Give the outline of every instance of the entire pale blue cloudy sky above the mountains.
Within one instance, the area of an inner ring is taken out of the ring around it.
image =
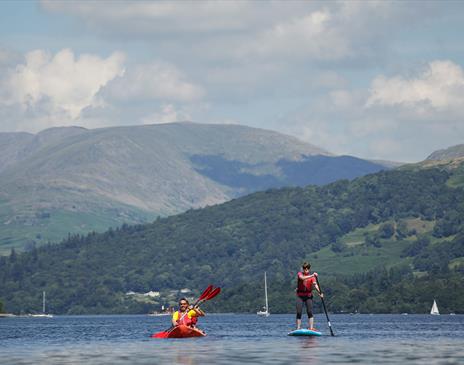
[[[193,121],[419,161],[464,143],[462,1],[2,1],[0,132]]]

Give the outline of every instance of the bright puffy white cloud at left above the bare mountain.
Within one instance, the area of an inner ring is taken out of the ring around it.
[[[95,95],[123,69],[124,57],[113,53],[106,59],[83,54],[75,58],[70,49],[55,55],[43,50],[29,52],[25,62],[10,69],[0,83],[4,106],[23,112],[40,110],[75,120],[95,102]]]

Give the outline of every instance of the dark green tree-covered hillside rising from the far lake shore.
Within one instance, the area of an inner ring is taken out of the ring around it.
[[[463,186],[463,165],[402,168],[69,236],[0,257],[0,298],[16,313],[40,310],[43,290],[57,314],[146,313],[167,299],[125,293],[214,283],[223,292],[207,310],[254,312],[266,271],[271,311],[292,312],[296,272],[310,260],[332,312],[424,313],[437,298],[442,312],[462,313]],[[362,241],[346,243],[359,230]]]

